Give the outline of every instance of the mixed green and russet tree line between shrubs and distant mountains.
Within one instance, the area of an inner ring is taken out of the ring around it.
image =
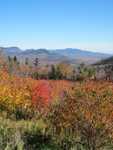
[[[29,58],[25,58],[25,61],[20,63],[16,56],[8,56],[7,66],[10,74],[32,77],[34,79],[82,81],[95,78],[95,69],[83,63],[78,66],[72,66],[64,62],[53,65],[41,65],[38,57],[32,61]]]

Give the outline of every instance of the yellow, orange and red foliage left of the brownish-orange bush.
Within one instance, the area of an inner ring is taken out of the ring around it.
[[[33,80],[0,71],[0,107],[7,111],[40,109],[58,100],[71,84],[67,81]]]

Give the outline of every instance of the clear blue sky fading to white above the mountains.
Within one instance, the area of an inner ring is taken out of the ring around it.
[[[113,0],[0,0],[0,46],[113,53]]]

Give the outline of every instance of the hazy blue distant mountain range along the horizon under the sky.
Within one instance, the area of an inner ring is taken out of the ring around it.
[[[97,61],[111,57],[110,54],[90,52],[81,49],[67,48],[67,49],[26,49],[21,50],[18,47],[1,47],[0,48],[6,56],[17,56],[20,61],[25,58],[33,60],[39,58],[41,64],[55,64],[66,62],[70,64],[93,64]]]

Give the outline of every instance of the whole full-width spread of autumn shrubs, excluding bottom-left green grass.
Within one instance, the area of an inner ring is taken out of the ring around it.
[[[73,131],[67,140],[72,147],[79,143],[98,150],[113,142],[112,82],[34,80],[0,71],[1,115],[35,120],[42,108],[47,112],[46,126],[56,129],[55,138],[61,137],[58,145],[67,140],[66,129]]]

